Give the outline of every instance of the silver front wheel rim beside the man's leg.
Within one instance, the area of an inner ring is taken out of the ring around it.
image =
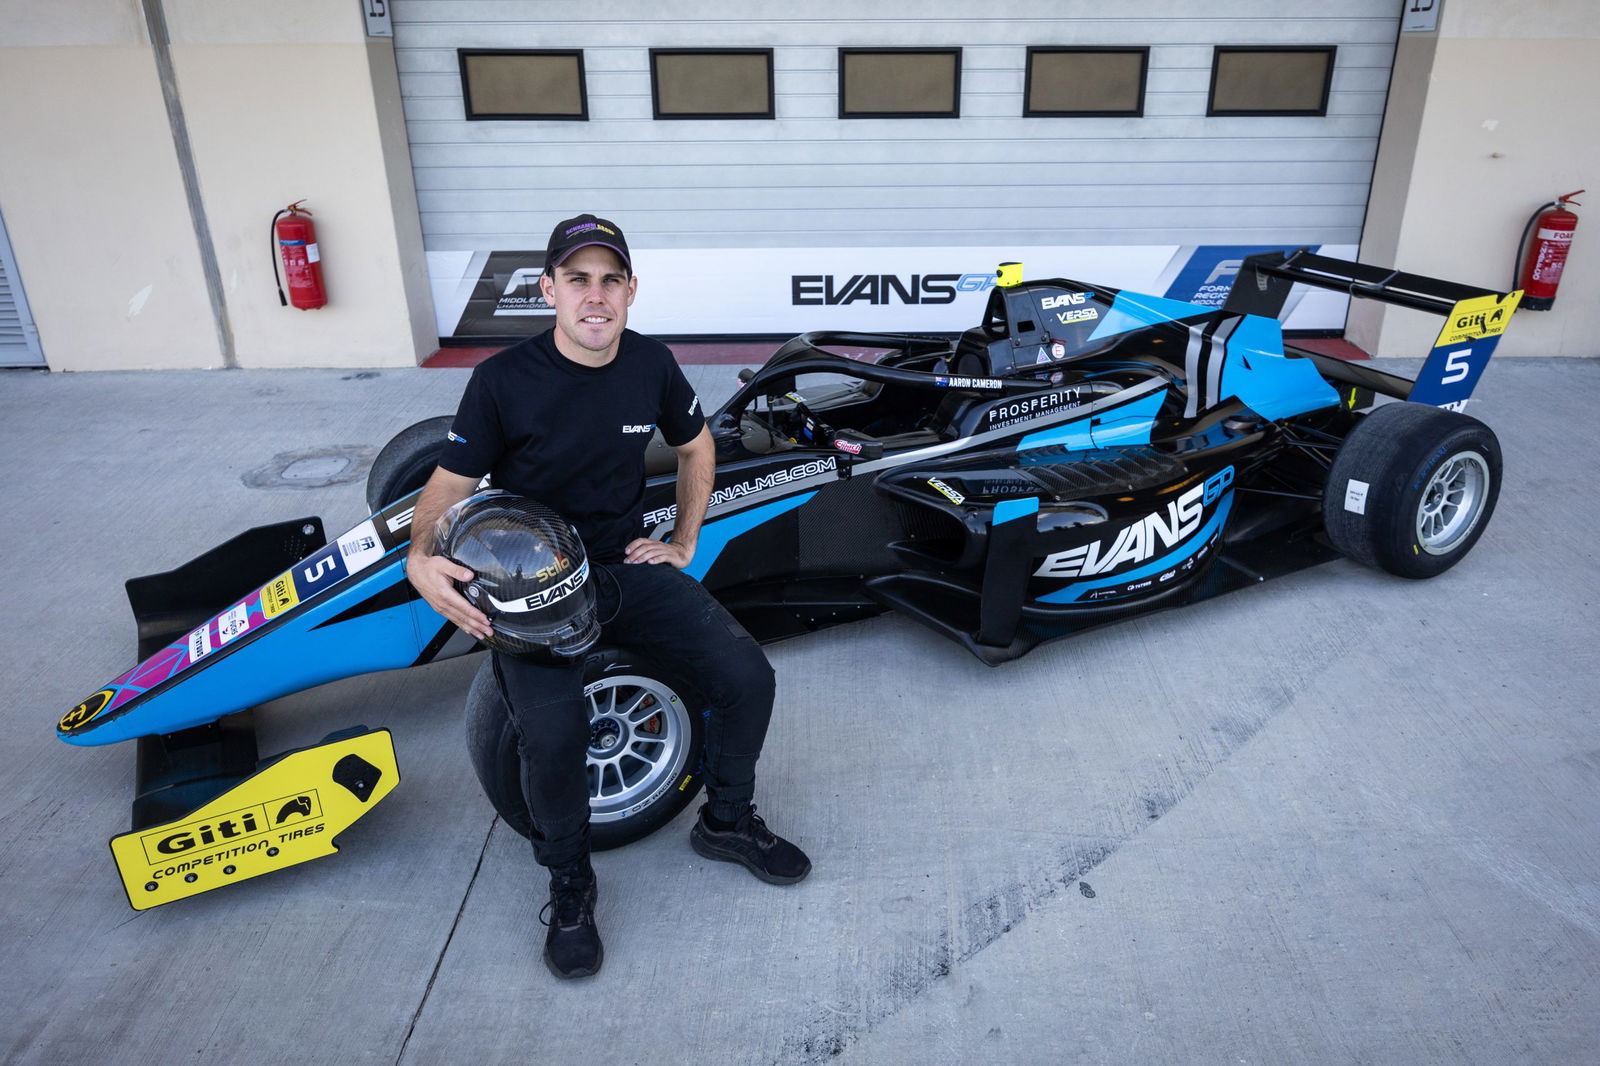
[[[654,677],[616,674],[589,699],[589,818],[618,821],[658,800],[690,760],[690,711]]]

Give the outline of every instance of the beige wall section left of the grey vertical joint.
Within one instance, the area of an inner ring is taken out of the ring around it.
[[[139,6],[0,6],[0,208],[56,370],[222,362]]]

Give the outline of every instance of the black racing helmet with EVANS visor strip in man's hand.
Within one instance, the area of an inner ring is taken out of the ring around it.
[[[488,616],[496,651],[568,663],[600,637],[584,543],[544,504],[499,490],[467,496],[440,515],[434,544],[472,571],[456,591]]]

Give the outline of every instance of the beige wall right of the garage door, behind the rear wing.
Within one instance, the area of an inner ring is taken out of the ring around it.
[[[1507,290],[1533,210],[1574,189],[1600,195],[1594,16],[1592,0],[1446,0],[1437,37],[1402,34],[1363,262]],[[1600,355],[1597,291],[1600,219],[1590,218],[1555,307],[1518,311],[1496,354]],[[1354,301],[1347,336],[1376,355],[1422,355],[1438,327]]]

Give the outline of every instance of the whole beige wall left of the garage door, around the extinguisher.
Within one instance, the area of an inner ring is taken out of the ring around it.
[[[0,2],[0,205],[46,362],[221,365],[141,5],[30,8]],[[357,3],[163,8],[237,363],[416,365],[435,335],[389,42]],[[282,307],[272,280],[267,222],[298,198],[320,311]]]

